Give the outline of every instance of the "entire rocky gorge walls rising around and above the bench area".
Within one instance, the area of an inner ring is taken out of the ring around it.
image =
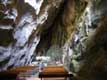
[[[73,80],[107,80],[107,0],[0,0],[0,71],[50,56]]]

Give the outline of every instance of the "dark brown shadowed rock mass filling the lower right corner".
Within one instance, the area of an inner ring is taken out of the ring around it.
[[[107,79],[106,23],[107,19],[102,18],[95,34],[87,45],[84,54],[84,65],[78,72],[78,80]]]

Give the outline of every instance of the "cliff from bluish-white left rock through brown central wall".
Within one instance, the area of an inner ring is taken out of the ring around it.
[[[0,69],[30,65],[50,47],[62,48],[86,4],[74,0],[1,0]]]

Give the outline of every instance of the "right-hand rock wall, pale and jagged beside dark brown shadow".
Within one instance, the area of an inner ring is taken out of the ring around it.
[[[73,42],[75,55],[71,60],[72,68],[77,72],[74,80],[107,79],[106,6],[106,0],[90,0],[85,15],[80,18],[75,34],[77,38]]]

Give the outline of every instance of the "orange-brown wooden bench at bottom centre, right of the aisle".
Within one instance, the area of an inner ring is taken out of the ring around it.
[[[45,67],[42,72],[39,73],[39,78],[60,78],[64,77],[65,79],[73,77],[73,74],[69,73],[63,66],[51,66]]]

